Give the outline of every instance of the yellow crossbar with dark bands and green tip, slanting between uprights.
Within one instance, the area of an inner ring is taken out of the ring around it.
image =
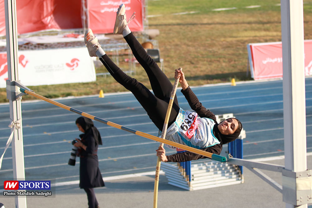
[[[184,149],[184,150],[187,150],[189,152],[193,152],[193,153],[196,153],[196,154],[199,154],[199,155],[203,155],[205,157],[208,157],[212,160],[216,160],[216,161],[219,161],[219,162],[226,162],[227,161],[227,158],[224,157],[224,156],[220,156],[220,155],[217,155],[217,154],[213,154],[213,153],[210,153],[210,152],[205,152],[205,151],[202,151],[200,149],[195,149],[195,148],[192,148],[192,147],[188,147],[186,145],[183,145],[183,144],[179,144],[179,143],[175,143],[175,142],[171,142],[169,140],[166,140],[166,139],[162,139],[162,138],[159,138],[159,137],[156,137],[156,136],[153,136],[153,135],[150,135],[150,134],[147,134],[147,133],[143,133],[143,132],[140,132],[140,131],[136,131],[132,128],[128,128],[128,127],[124,127],[124,126],[121,126],[117,123],[113,123],[113,122],[110,122],[110,121],[107,121],[105,119],[101,119],[99,117],[95,117],[93,115],[90,115],[90,114],[87,114],[87,113],[84,113],[80,110],[77,110],[77,109],[74,109],[74,108],[71,108],[67,105],[63,105],[61,103],[58,103],[54,100],[51,100],[51,99],[48,99],[46,97],[43,97],[39,94],[36,94],[34,92],[31,92],[27,89],[23,89],[21,88],[20,89],[22,93],[25,93],[25,94],[29,94],[29,95],[32,95],[38,99],[41,99],[41,100],[44,100],[48,103],[51,103],[53,105],[56,105],[60,108],[63,108],[63,109],[66,109],[66,110],[69,110],[71,112],[74,112],[76,114],[79,114],[79,115],[82,115],[86,118],[89,118],[89,119],[92,119],[92,120],[95,120],[95,121],[98,121],[98,122],[101,122],[101,123],[104,123],[106,125],[109,125],[109,126],[112,126],[112,127],[115,127],[115,128],[118,128],[118,129],[121,129],[121,130],[124,130],[124,131],[127,131],[127,132],[130,132],[130,133],[133,133],[133,134],[136,134],[138,136],[141,136],[141,137],[144,137],[144,138],[148,138],[148,139],[151,139],[151,140],[154,140],[156,142],[160,142],[160,143],[164,143],[164,144],[168,144],[170,146],[173,146],[173,147],[177,147],[177,148],[180,148],[180,149]]]

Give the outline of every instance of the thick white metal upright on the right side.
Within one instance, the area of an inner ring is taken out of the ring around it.
[[[281,27],[285,169],[301,172],[307,169],[303,0],[281,0]]]

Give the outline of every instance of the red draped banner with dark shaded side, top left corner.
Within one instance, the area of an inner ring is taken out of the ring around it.
[[[0,36],[5,36],[4,0],[0,0]],[[82,28],[81,1],[16,0],[17,33]]]

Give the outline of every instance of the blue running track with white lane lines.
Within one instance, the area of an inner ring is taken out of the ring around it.
[[[214,114],[233,113],[246,131],[244,158],[254,159],[284,155],[282,80],[236,83],[236,86],[209,85],[193,87],[200,102]],[[307,152],[312,152],[312,78],[305,79]],[[30,96],[30,95],[27,95]],[[178,90],[180,107],[190,107]],[[57,102],[85,113],[157,135],[158,130],[131,93],[57,99]],[[22,124],[26,178],[56,178],[56,182],[79,180],[76,166],[67,164],[71,141],[78,138],[75,120],[79,115],[44,101],[22,102]],[[9,105],[0,105],[0,152],[10,135]],[[103,146],[98,151],[103,177],[154,171],[158,143],[95,122]],[[227,145],[223,147],[225,155]],[[168,150],[168,154],[174,153]],[[204,161],[204,160],[201,160]],[[0,175],[12,177],[12,149],[4,155]]]

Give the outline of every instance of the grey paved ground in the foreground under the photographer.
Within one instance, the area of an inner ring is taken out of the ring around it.
[[[308,169],[312,168],[312,156],[307,157]],[[284,165],[284,159],[267,161]],[[281,173],[263,171],[281,184]],[[158,207],[232,207],[232,208],[279,208],[285,207],[282,194],[244,168],[243,184],[222,186],[197,191],[185,191],[168,185],[164,175],[160,176]],[[105,181],[105,188],[96,188],[100,207],[146,208],[153,207],[154,177],[142,176]],[[2,195],[2,194],[1,194]],[[15,207],[14,197],[1,196],[6,208]],[[311,206],[312,204],[310,204]],[[309,206],[309,207],[310,207]],[[78,185],[56,187],[55,198],[27,198],[28,208],[87,207],[87,197]],[[311,206],[312,207],[312,206]]]

